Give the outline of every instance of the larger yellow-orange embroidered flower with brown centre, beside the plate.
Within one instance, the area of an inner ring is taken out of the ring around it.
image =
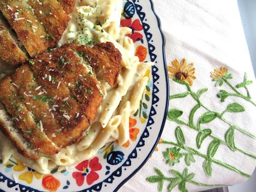
[[[190,86],[193,85],[193,79],[196,78],[194,63],[187,63],[184,58],[181,63],[176,59],[171,62],[171,66],[167,67],[170,78],[176,78],[180,81],[189,83]]]

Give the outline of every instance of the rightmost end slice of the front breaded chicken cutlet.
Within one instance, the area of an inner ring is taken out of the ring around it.
[[[97,78],[114,86],[121,69],[121,53],[115,48],[113,43],[99,43],[94,47],[69,44],[73,50],[83,53],[87,63],[94,69]]]

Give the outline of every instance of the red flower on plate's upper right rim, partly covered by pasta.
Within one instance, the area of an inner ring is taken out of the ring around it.
[[[143,29],[143,26],[140,24],[139,19],[135,19],[133,22],[131,21],[131,19],[122,19],[121,26],[129,27],[132,29],[132,34],[128,34],[127,36],[130,37],[132,41],[134,41],[134,43],[136,41],[142,40],[143,38],[142,34],[139,32],[136,32],[136,31],[141,31]]]

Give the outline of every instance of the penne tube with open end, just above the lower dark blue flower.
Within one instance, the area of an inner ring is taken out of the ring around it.
[[[91,148],[94,150],[98,150],[103,147],[107,140],[110,138],[112,132],[117,129],[117,127],[121,123],[121,115],[114,116],[110,119],[105,129],[102,129],[100,134],[97,136],[95,141],[91,144]]]

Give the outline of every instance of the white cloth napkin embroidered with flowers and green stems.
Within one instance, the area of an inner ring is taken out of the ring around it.
[[[166,37],[168,65],[175,59],[182,63],[183,58],[193,62],[196,79],[191,78],[193,86],[188,87],[195,94],[201,90],[201,96],[196,101],[186,85],[170,78],[170,96],[184,93],[169,103],[162,139],[170,143],[159,144],[119,191],[170,191],[173,186],[171,191],[200,191],[245,181],[256,165],[256,92],[237,1],[154,0],[154,4]],[[211,77],[215,69],[219,76]],[[212,80],[217,77],[219,81]],[[199,103],[194,129],[183,125]]]

